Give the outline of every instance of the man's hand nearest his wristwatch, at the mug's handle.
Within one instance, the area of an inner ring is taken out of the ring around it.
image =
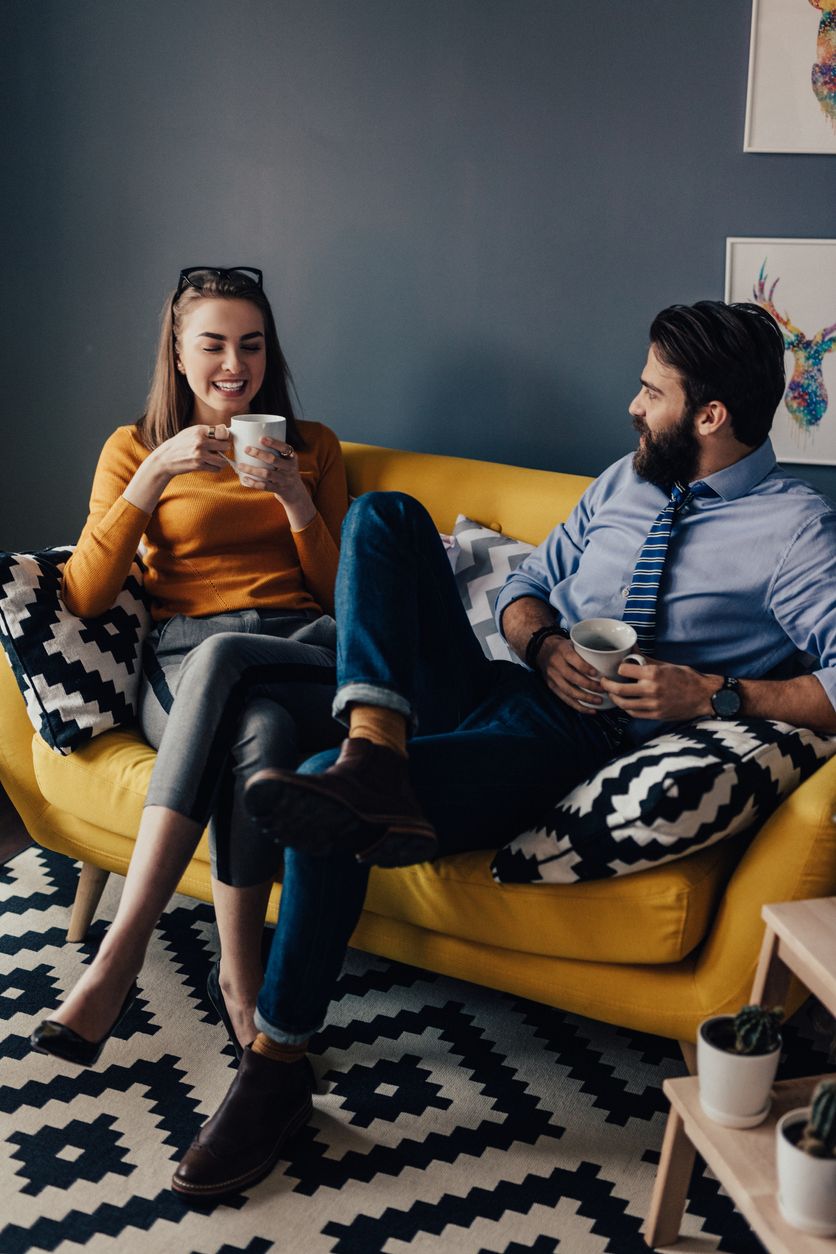
[[[722,675],[703,675],[691,666],[651,660],[644,666],[622,662],[618,673],[630,682],[602,678],[600,686],[633,719],[711,719],[712,692],[723,682]]]

